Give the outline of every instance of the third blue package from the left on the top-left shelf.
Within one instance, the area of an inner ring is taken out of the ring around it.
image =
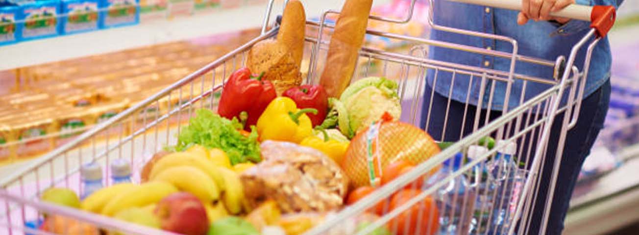
[[[98,0],[62,0],[62,33],[98,29]]]

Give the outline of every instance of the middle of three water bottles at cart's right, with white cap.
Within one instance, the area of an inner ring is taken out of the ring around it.
[[[488,152],[488,149],[484,146],[471,145],[467,151],[468,161],[473,161],[486,154],[486,152]],[[489,180],[485,164],[476,165],[469,179],[471,184],[475,185],[475,191],[477,192],[475,210],[470,222],[470,234],[486,234],[491,223],[490,214],[493,212],[493,191],[497,187],[494,181]]]

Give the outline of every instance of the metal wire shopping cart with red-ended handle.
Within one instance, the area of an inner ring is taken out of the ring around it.
[[[472,0],[459,1],[484,5],[488,3],[491,6],[511,9],[519,8],[518,4],[520,3],[519,0],[486,1],[486,3]],[[414,6],[415,2],[416,0],[412,0],[411,6]],[[113,220],[101,215],[40,202],[38,195],[53,186],[71,188],[81,192],[83,189],[79,177],[79,166],[88,162],[98,162],[103,166],[109,166],[109,162],[115,158],[126,158],[131,161],[134,169],[133,179],[138,182],[139,172],[136,169],[142,168],[144,163],[162,147],[176,143],[174,136],[180,133],[180,128],[177,125],[183,124],[190,117],[193,117],[194,110],[197,108],[216,109],[219,93],[224,86],[226,77],[244,65],[250,47],[261,40],[277,35],[277,24],[274,24],[270,29],[268,27],[272,21],[270,16],[273,4],[274,1],[268,3],[262,34],[258,37],[115,117],[97,124],[92,129],[80,134],[75,140],[53,150],[42,158],[36,159],[28,167],[11,172],[8,177],[4,177],[0,181],[2,186],[0,198],[4,202],[0,204],[0,210],[4,211],[4,215],[0,218],[0,224],[6,227],[4,232],[7,234],[56,234],[38,231],[34,229],[35,226],[29,226],[29,224],[36,223],[38,219],[42,219],[43,215],[46,214],[72,218],[73,220],[65,220],[64,222],[74,226],[90,224],[100,229],[122,231],[127,234],[172,234]],[[562,152],[566,132],[574,126],[576,113],[579,113],[592,49],[599,41],[600,36],[605,35],[610,29],[614,21],[613,8],[596,7],[595,10],[592,10],[586,6],[570,6],[564,12],[558,13],[560,16],[573,19],[590,20],[590,12],[593,12],[594,16],[600,15],[593,17],[592,21],[595,27],[578,44],[574,45],[572,53],[567,55],[567,60],[565,57],[560,57],[557,58],[557,61],[541,60],[517,54],[517,43],[512,38],[438,26],[432,23],[432,19],[431,27],[434,29],[466,36],[503,40],[511,43],[513,49],[511,52],[491,51],[450,42],[367,30],[368,35],[410,42],[414,46],[404,52],[363,47],[360,50],[358,61],[358,64],[362,66],[356,69],[353,81],[367,76],[386,76],[395,79],[399,83],[397,92],[403,103],[403,113],[406,114],[402,120],[416,126],[419,126],[420,117],[425,117],[427,120],[433,115],[444,115],[445,120],[449,117],[448,108],[446,110],[429,109],[427,113],[420,112],[427,86],[424,81],[427,72],[435,72],[435,74],[451,72],[460,74],[460,76],[468,76],[470,81],[480,79],[481,90],[486,90],[486,93],[480,95],[482,97],[488,96],[488,109],[490,109],[491,101],[496,99],[493,97],[496,83],[505,83],[507,89],[510,89],[514,81],[520,80],[525,85],[545,84],[548,85],[548,89],[532,98],[527,98],[522,94],[519,99],[520,106],[508,110],[508,106],[504,105],[501,110],[502,115],[494,120],[488,117],[489,112],[470,111],[472,106],[466,102],[468,112],[465,112],[464,115],[474,115],[475,118],[473,123],[463,123],[462,126],[472,125],[472,134],[467,136],[460,134],[458,142],[442,150],[428,161],[420,163],[412,171],[385,184],[375,193],[364,197],[351,206],[344,207],[337,213],[325,216],[325,220],[307,231],[307,234],[353,234],[356,231],[341,229],[353,227],[346,223],[353,222],[355,218],[367,213],[366,211],[370,207],[380,202],[383,204],[383,216],[372,221],[364,229],[357,231],[357,234],[370,234],[376,227],[380,226],[387,227],[394,234],[433,234],[436,232],[433,231],[433,227],[435,227],[433,223],[438,223],[440,216],[446,216],[447,213],[452,215],[457,213],[456,211],[461,211],[461,215],[466,216],[454,218],[448,223],[460,228],[458,231],[463,231],[459,232],[460,234],[514,234],[516,227],[520,227],[519,234],[527,234],[526,229],[531,223],[544,225],[548,220],[548,213],[544,216],[543,221],[531,221],[530,212],[532,207],[548,207],[551,203],[551,200],[548,200],[546,205],[534,204],[540,183],[538,175],[541,174],[540,169],[543,168],[541,164],[544,162],[543,159],[548,157],[546,156],[546,145],[550,128],[555,117],[563,114],[562,132],[558,133],[560,144],[557,151]],[[337,13],[339,12],[327,11],[321,16],[319,22],[307,21],[307,28],[312,29],[314,33],[307,33],[305,42],[305,60],[309,61],[308,69],[303,69],[303,74],[307,74],[305,83],[318,83],[318,71],[321,71],[324,66],[323,60],[329,42],[327,37],[333,28],[333,25],[325,23],[325,20],[328,15]],[[369,19],[402,24],[408,22],[411,17],[412,10],[408,12],[405,19],[388,19],[378,16],[370,16]],[[580,70],[574,66],[578,59],[576,53],[586,44],[588,44],[588,53],[584,58],[585,66]],[[508,71],[491,70],[432,60],[426,56],[427,46],[507,58],[511,61],[511,69]],[[542,65],[548,70],[553,70],[555,76],[535,77],[518,74],[514,70],[516,63]],[[392,71],[398,72],[393,73]],[[399,75],[390,77],[391,74]],[[504,100],[508,101],[510,93],[506,93],[507,96]],[[430,95],[432,97],[434,93],[431,92]],[[561,102],[562,100],[566,102]],[[110,131],[113,129],[118,129],[120,132]],[[130,134],[125,134],[125,131]],[[442,136],[444,135],[445,133],[442,133]],[[475,150],[469,151],[477,149],[477,146],[481,145],[488,147],[488,142],[482,142],[482,138],[486,136],[493,136],[500,141],[493,149],[479,154]],[[486,168],[487,159],[494,158],[496,152],[503,149],[508,143],[517,143],[518,158],[516,159],[520,162],[520,167],[504,170],[498,177],[486,176],[482,169]],[[472,147],[473,145],[475,147]],[[390,205],[393,204],[389,202],[393,193],[417,179],[425,179],[429,176],[427,172],[442,165],[446,159],[454,158],[458,152],[463,154],[464,161],[452,174],[442,181],[422,188],[417,195],[412,195],[413,197],[410,199]],[[469,154],[473,155],[471,152],[474,153],[474,156],[468,158]],[[560,154],[557,154],[557,159],[560,157]],[[557,163],[555,163],[550,189],[554,188],[554,181],[557,177]],[[110,175],[111,172],[107,169],[106,185],[111,184]],[[468,190],[465,190],[463,195],[459,195],[462,197],[461,199],[438,196],[438,191],[446,188],[449,182],[459,177],[466,177],[470,182]],[[552,190],[550,194],[552,195]],[[433,205],[437,205],[439,209]],[[500,221],[496,223],[495,218],[499,218]],[[408,223],[415,219],[427,223],[418,223],[420,225],[411,228]],[[70,228],[57,234],[74,234],[69,231]],[[89,233],[91,232],[97,233],[96,230],[90,230]]]

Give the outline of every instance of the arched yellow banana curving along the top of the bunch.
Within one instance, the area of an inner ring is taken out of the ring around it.
[[[153,169],[151,169],[149,179],[153,179],[153,177],[164,172],[164,170],[173,168],[174,166],[193,166],[198,168],[215,181],[215,184],[219,186],[219,190],[224,190],[224,179],[222,179],[222,175],[217,171],[217,166],[213,165],[210,159],[190,152],[174,152],[158,160],[153,166]]]

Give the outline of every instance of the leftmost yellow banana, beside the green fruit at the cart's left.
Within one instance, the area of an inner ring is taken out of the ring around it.
[[[121,183],[113,184],[107,188],[101,188],[100,190],[91,193],[91,195],[86,197],[86,199],[82,200],[81,208],[85,211],[100,213],[104,206],[106,206],[111,199],[114,199],[116,195],[125,193],[135,187],[137,187],[137,184]]]

